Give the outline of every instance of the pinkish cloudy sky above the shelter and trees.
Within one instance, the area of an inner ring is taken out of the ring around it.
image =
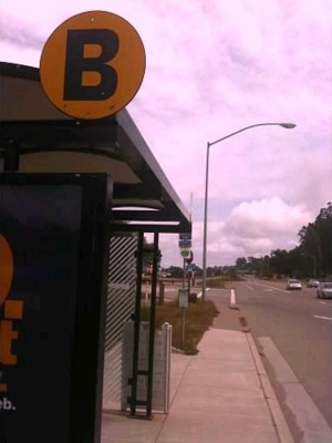
[[[1,2],[1,61],[39,66],[70,17],[104,10],[141,35],[146,72],[127,105],[193,213],[201,266],[207,142],[208,266],[298,245],[332,200],[331,0],[71,0]],[[163,267],[181,266],[177,235],[162,235]]]

